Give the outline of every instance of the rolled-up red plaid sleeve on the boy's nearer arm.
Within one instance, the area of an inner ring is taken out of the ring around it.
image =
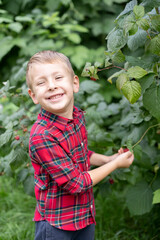
[[[90,174],[81,172],[65,150],[48,135],[32,137],[30,157],[40,164],[59,186],[71,194],[92,188]]]

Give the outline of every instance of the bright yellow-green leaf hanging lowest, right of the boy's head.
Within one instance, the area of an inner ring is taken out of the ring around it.
[[[130,103],[135,103],[141,96],[141,85],[136,81],[127,81],[123,84],[122,92]]]

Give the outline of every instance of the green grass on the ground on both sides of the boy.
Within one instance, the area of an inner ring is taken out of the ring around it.
[[[129,215],[120,191],[96,197],[95,240],[160,239],[160,205],[143,216]],[[34,240],[35,199],[6,176],[0,177],[0,240]]]

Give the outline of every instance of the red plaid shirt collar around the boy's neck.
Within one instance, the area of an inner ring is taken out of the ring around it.
[[[53,114],[51,112],[48,112],[48,111],[46,111],[45,109],[42,108],[41,112],[40,112],[40,118],[45,119],[47,122],[48,121],[52,122],[52,124],[54,124],[54,126],[59,128],[60,130],[64,131],[69,122],[76,122],[76,120],[78,119],[81,112],[82,112],[81,109],[74,106],[74,108],[73,108],[73,119],[68,119],[68,118],[64,118],[62,116],[58,116],[56,114]]]

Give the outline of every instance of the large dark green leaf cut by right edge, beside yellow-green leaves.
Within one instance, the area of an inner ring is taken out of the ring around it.
[[[160,120],[160,86],[152,84],[143,94],[143,105],[156,119]]]

